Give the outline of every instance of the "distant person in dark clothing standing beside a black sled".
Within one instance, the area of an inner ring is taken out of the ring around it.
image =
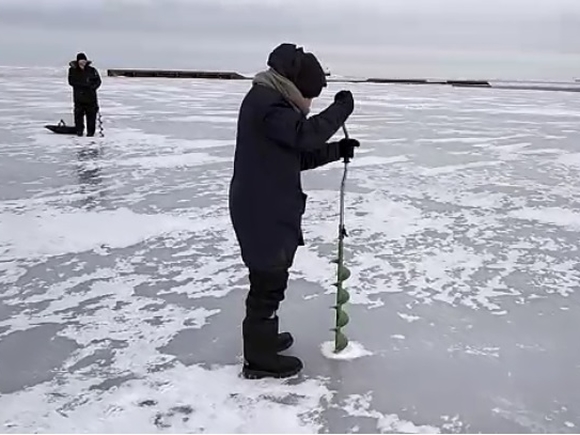
[[[82,136],[87,117],[87,136],[94,136],[97,126],[99,101],[97,89],[101,86],[101,76],[91,66],[84,53],[77,54],[77,60],[69,63],[68,84],[73,88],[74,118],[77,135]]]

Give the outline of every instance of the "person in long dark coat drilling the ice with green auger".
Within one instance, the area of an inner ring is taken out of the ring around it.
[[[257,74],[238,116],[229,210],[250,290],[242,323],[244,377],[285,378],[302,370],[302,361],[279,355],[294,343],[279,333],[277,310],[285,297],[288,270],[298,246],[307,195],[301,171],[348,156],[359,142],[327,142],[354,110],[350,91],[340,91],[321,113],[307,117],[326,77],[312,53],[281,44]]]

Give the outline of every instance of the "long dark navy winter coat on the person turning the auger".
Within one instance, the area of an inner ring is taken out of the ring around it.
[[[253,85],[238,117],[229,207],[242,258],[250,269],[289,268],[303,245],[306,207],[301,171],[339,160],[327,141],[352,112],[333,103],[306,118],[276,90]]]

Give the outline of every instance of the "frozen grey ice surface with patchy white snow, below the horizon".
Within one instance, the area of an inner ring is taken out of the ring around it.
[[[42,128],[71,122],[61,71],[1,77],[3,431],[580,425],[574,94],[350,86],[362,142],[346,196],[354,353],[320,351],[332,339],[336,163],[305,174],[307,246],[280,312],[304,373],[250,382],[227,211],[249,83],[104,78],[105,137],[89,139]]]

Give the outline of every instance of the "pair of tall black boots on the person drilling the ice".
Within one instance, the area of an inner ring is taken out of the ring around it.
[[[286,333],[288,335],[278,334],[278,317],[272,319],[246,317],[242,331],[244,340],[242,374],[246,379],[288,378],[302,370],[303,364],[300,359],[278,355],[278,349],[287,346],[288,338],[292,337],[288,333]]]

